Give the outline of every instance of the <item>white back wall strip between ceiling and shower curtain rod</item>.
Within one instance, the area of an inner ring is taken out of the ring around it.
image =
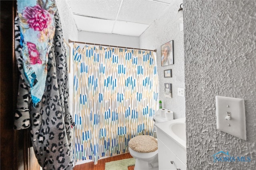
[[[78,41],[121,47],[140,48],[139,37],[127,35],[79,31]]]

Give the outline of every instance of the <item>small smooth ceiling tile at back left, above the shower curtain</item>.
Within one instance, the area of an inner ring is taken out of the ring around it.
[[[114,20],[103,20],[73,15],[78,29],[84,31],[111,33]]]

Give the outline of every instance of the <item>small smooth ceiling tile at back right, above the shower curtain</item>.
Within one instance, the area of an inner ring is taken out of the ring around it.
[[[130,36],[140,36],[149,25],[125,21],[116,21],[113,33]]]

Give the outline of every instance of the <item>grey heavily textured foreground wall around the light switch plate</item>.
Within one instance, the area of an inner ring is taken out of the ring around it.
[[[256,167],[256,1],[184,0],[188,169]],[[247,141],[216,129],[215,96],[243,98]],[[220,150],[251,162],[213,162]]]

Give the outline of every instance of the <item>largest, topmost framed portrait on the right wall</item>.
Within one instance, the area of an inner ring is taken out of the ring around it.
[[[173,62],[173,40],[161,45],[161,66],[168,66]]]

